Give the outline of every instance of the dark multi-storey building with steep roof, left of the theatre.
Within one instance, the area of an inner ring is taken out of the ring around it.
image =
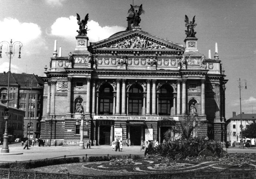
[[[32,88],[31,88],[32,81]],[[8,73],[0,73],[1,103],[6,104],[7,100]],[[40,120],[43,107],[44,82],[41,77],[34,74],[10,74],[10,97],[9,105],[12,108],[25,111],[24,124],[22,125],[23,135],[29,134],[28,124],[30,119],[30,138],[39,137]]]

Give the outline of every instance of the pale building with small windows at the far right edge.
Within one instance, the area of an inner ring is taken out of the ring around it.
[[[235,143],[240,145],[241,137],[241,114],[236,115],[236,112],[233,112],[233,117],[229,118],[226,121],[227,124],[227,141],[231,141],[231,144]],[[256,114],[245,114],[242,112],[242,128],[246,129],[253,121],[256,120]],[[244,143],[247,140],[251,140],[252,145],[256,145],[255,139],[249,139],[243,137]]]

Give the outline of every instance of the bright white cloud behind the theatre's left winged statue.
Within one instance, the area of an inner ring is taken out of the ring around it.
[[[87,23],[88,31],[87,36],[90,42],[97,42],[113,35],[116,32],[125,30],[121,26],[105,26],[101,27],[98,22],[90,20]],[[61,36],[67,40],[74,41],[74,37],[78,35],[76,30],[79,29],[76,16],[60,17],[51,26],[51,35]]]

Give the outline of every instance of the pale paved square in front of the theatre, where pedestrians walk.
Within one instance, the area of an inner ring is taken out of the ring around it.
[[[0,148],[2,145],[0,145]],[[110,145],[91,146],[91,149],[79,149],[78,146],[47,146],[47,147],[30,147],[29,150],[23,150],[20,144],[10,144],[10,153],[22,153],[20,155],[2,155],[0,154],[0,162],[15,162],[25,160],[36,160],[53,157],[62,157],[64,155],[143,155],[140,152],[140,146],[123,147],[122,152],[112,151]],[[228,148],[228,153],[256,153],[255,148]]]

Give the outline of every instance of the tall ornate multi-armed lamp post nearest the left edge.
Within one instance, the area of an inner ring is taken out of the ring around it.
[[[15,45],[19,45],[19,57],[20,58],[20,50],[22,47],[22,43],[19,41],[16,41],[14,43],[12,43],[12,39],[11,42],[7,42],[7,41],[2,41],[0,42],[0,58],[2,58],[2,47],[3,44],[7,45],[7,51],[6,51],[6,55],[9,57],[10,61],[9,61],[9,70],[8,70],[8,87],[7,87],[7,105],[6,105],[6,109],[5,109],[5,131],[4,131],[4,142],[3,142],[3,147],[1,148],[1,153],[9,153],[9,147],[8,147],[8,131],[7,131],[7,121],[9,119],[8,116],[8,111],[9,111],[9,95],[10,95],[10,73],[11,73],[11,59],[14,56],[15,53]]]

